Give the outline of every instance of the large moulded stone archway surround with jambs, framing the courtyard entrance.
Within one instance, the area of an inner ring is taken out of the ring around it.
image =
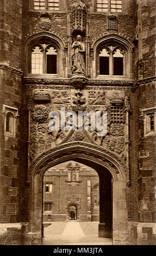
[[[86,142],[72,142],[59,145],[58,147],[40,155],[32,164],[30,172],[30,216],[29,232],[26,234],[28,244],[41,244],[42,242],[42,181],[46,170],[59,163],[74,160],[84,163],[95,169],[100,176],[104,173],[111,174],[113,190],[112,234],[113,244],[126,244],[127,231],[127,206],[126,206],[126,172],[123,163],[110,151],[104,150],[97,145]],[[100,197],[102,198],[100,192]],[[100,217],[99,234],[107,236],[107,227],[101,223]],[[105,231],[106,230],[106,231]]]

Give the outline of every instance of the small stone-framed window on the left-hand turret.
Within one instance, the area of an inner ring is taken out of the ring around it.
[[[18,117],[18,109],[7,105],[3,105],[4,114],[4,135],[8,137],[16,136],[16,118]]]

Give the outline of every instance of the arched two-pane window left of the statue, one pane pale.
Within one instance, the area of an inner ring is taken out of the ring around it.
[[[57,74],[57,50],[50,44],[39,44],[32,48],[32,74]]]

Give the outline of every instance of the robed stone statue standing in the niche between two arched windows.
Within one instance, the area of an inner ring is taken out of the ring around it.
[[[72,73],[85,75],[85,45],[80,35],[72,44]]]

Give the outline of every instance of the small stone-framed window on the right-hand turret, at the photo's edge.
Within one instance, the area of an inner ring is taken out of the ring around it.
[[[144,136],[155,135],[156,108],[143,109],[141,117],[143,118]]]

